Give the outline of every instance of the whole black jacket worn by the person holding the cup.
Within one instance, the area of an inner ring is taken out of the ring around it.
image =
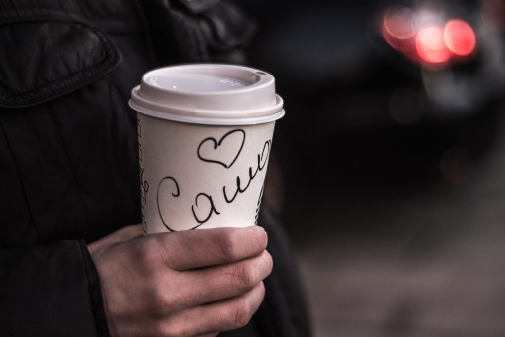
[[[130,89],[171,63],[243,62],[254,26],[219,0],[0,0],[0,334],[108,336],[86,243],[140,222]],[[289,245],[244,328],[309,334]]]

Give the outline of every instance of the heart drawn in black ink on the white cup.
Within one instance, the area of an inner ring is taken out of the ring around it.
[[[228,131],[221,139],[205,138],[198,146],[198,158],[207,163],[216,163],[229,169],[237,160],[244,146],[245,132],[241,129]]]

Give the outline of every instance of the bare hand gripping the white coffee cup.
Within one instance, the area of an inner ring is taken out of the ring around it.
[[[215,336],[258,310],[272,270],[263,228],[140,234],[129,226],[88,246],[113,336]]]

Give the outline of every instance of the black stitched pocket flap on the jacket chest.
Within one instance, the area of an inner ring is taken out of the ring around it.
[[[121,54],[84,23],[20,20],[0,25],[0,107],[49,101],[112,71]]]

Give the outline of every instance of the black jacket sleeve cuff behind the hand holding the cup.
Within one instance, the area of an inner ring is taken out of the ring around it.
[[[0,290],[4,336],[110,336],[82,240],[0,251]]]

